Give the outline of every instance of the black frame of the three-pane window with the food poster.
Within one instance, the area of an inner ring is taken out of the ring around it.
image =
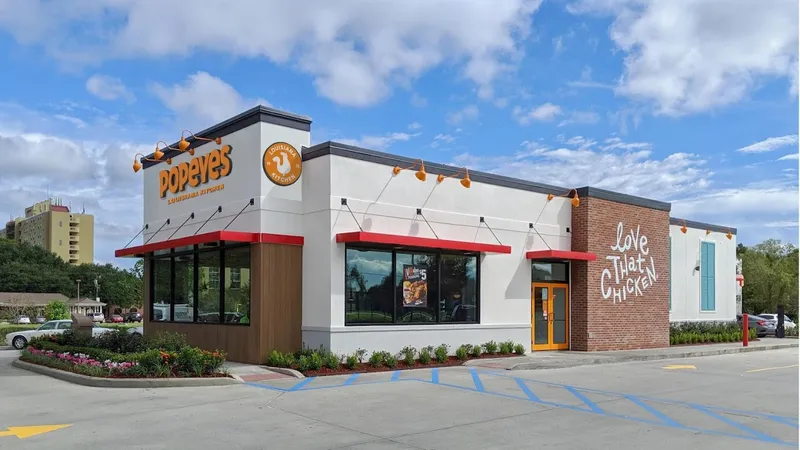
[[[391,322],[358,322],[350,323],[347,321],[347,299],[343,305],[344,308],[344,325],[346,327],[386,327],[386,326],[425,326],[425,327],[438,327],[442,325],[478,325],[481,323],[481,256],[479,252],[464,252],[458,250],[440,250],[432,248],[420,247],[406,247],[406,246],[392,246],[381,244],[347,244],[345,245],[344,252],[344,286],[347,289],[347,251],[348,250],[361,250],[361,251],[376,251],[390,253],[392,256],[392,321]],[[402,316],[402,307],[399,305],[399,298],[397,296],[397,254],[427,254],[434,255],[436,258],[436,292],[438,298],[436,301],[436,321],[435,322],[402,322],[398,319]],[[441,308],[439,302],[441,301],[441,288],[442,288],[442,255],[446,256],[469,256],[475,258],[475,320],[463,322],[442,322]],[[346,297],[346,295],[345,295]]]

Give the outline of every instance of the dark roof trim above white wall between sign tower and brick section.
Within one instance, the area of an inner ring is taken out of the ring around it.
[[[390,153],[376,152],[374,150],[367,150],[365,148],[354,147],[352,145],[340,144],[337,142],[323,142],[313,147],[303,149],[303,161],[309,161],[320,156],[335,155],[345,158],[357,159],[359,161],[366,161],[375,164],[383,164],[385,166],[408,166],[419,159],[407,158],[405,156],[392,155]],[[432,174],[442,174],[445,176],[455,175],[462,167],[447,166],[434,162],[425,161],[425,171]],[[495,186],[508,187],[512,189],[521,189],[524,191],[538,192],[541,194],[566,194],[567,189],[551,186],[547,184],[534,183],[531,181],[519,180],[511,177],[504,177],[488,172],[479,172],[477,170],[469,171],[469,178],[472,181],[485,184],[493,184]]]

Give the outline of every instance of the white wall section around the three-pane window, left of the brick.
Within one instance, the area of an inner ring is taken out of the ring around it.
[[[399,351],[447,343],[482,343],[531,338],[531,265],[529,250],[570,250],[571,204],[566,198],[548,202],[546,194],[473,182],[470,189],[458,179],[436,183],[414,177],[414,171],[393,176],[392,168],[339,156],[304,163],[305,246],[303,249],[303,340],[352,353],[358,348]],[[313,179],[309,174],[313,173]],[[325,174],[329,189],[324,190]],[[313,186],[313,188],[312,188]],[[560,193],[555,193],[560,194]],[[347,203],[355,219],[342,206]],[[345,245],[338,233],[364,231],[403,236],[436,237],[416,216],[425,218],[441,239],[510,245],[512,254],[484,254],[480,259],[480,324],[345,326]],[[537,233],[529,228],[534,223]],[[545,244],[545,241],[547,244]],[[329,274],[330,284],[328,285]],[[527,345],[526,345],[527,347]]]

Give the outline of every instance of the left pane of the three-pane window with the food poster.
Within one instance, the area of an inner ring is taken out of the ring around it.
[[[391,323],[392,252],[348,248],[346,253],[345,323]]]

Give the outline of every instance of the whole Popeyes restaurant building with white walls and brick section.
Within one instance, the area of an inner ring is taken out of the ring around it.
[[[670,204],[334,142],[256,107],[137,155],[145,334],[259,363],[273,349],[666,347],[733,320],[736,230]],[[137,236],[138,238],[138,236]]]

